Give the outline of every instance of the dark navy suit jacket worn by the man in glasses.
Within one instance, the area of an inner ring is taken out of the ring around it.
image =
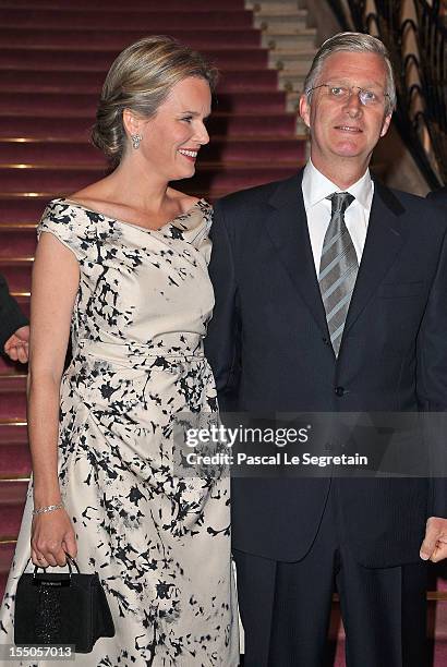
[[[221,410],[444,411],[447,408],[447,225],[424,199],[375,183],[367,238],[336,360],[315,275],[302,172],[217,202],[205,341]],[[337,391],[336,391],[336,388]],[[444,481],[337,480],[358,561],[419,560]],[[233,546],[305,556],[328,480],[233,480]]]

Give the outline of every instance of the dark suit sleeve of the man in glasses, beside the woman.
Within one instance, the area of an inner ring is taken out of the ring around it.
[[[216,379],[221,411],[235,411],[241,376],[241,322],[234,257],[221,205],[216,204],[210,230],[209,277],[215,307],[205,339],[205,353]]]

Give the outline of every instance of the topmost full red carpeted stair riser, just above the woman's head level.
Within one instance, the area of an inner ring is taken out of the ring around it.
[[[3,27],[59,31],[70,28],[89,33],[92,29],[138,31],[146,34],[171,34],[176,29],[213,29],[222,25],[231,31],[250,28],[252,12],[240,10],[215,10],[208,4],[208,11],[194,12],[185,3],[183,11],[114,11],[105,15],[102,10],[85,12],[78,9],[65,9],[63,12],[53,9],[2,9],[0,25]],[[86,35],[85,35],[86,37]],[[84,39],[85,39],[84,37]]]

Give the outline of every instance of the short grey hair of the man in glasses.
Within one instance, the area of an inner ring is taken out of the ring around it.
[[[307,97],[307,101],[311,101],[312,88],[314,88],[318,83],[324,63],[329,56],[333,53],[338,53],[339,51],[377,53],[378,56],[382,56],[387,73],[385,113],[386,116],[391,113],[391,111],[396,108],[396,84],[388,49],[383,41],[364,33],[338,33],[322,44],[304,81],[304,94]]]

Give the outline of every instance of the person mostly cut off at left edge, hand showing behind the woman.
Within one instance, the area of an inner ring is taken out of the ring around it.
[[[12,361],[28,361],[28,320],[0,276],[0,350]]]

